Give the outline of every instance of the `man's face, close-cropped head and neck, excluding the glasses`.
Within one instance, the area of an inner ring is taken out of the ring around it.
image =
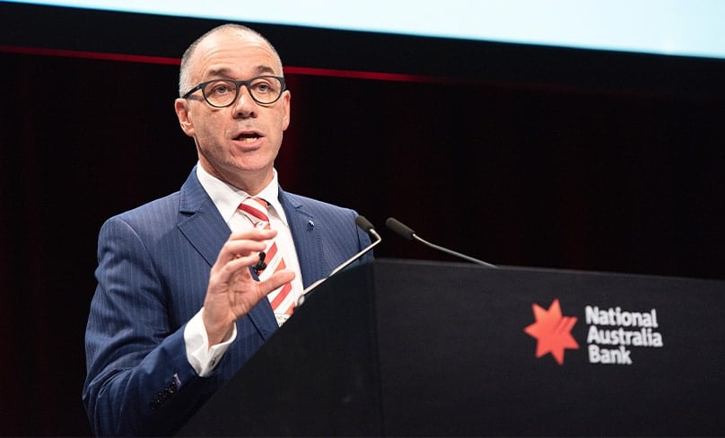
[[[282,75],[282,66],[266,42],[240,31],[220,31],[204,39],[188,68],[192,86],[212,79]],[[177,100],[176,111],[184,132],[195,139],[205,171],[252,195],[272,180],[283,132],[290,123],[290,92],[275,103],[261,105],[241,85],[237,101],[214,108],[197,91],[188,100]]]

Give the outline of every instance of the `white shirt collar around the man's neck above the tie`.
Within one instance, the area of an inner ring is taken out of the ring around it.
[[[273,169],[274,176],[272,181],[266,185],[257,195],[266,200],[269,204],[269,214],[277,216],[284,226],[287,224],[287,217],[284,215],[284,209],[282,203],[279,202],[279,182],[277,180],[277,171]],[[224,222],[230,223],[231,217],[237,213],[237,208],[240,206],[241,201],[249,197],[250,195],[244,190],[240,190],[227,184],[223,180],[219,180],[212,176],[209,172],[202,168],[201,164],[197,162],[197,178],[201,183],[201,186],[205,189],[209,197],[212,198],[214,206],[216,206],[219,213],[222,215]]]

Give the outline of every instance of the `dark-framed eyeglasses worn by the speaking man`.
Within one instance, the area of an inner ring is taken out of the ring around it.
[[[275,103],[282,96],[284,77],[257,76],[249,79],[249,81],[214,79],[213,81],[199,83],[184,94],[182,99],[188,99],[192,93],[201,90],[206,103],[214,108],[224,108],[237,101],[241,85],[247,87],[247,91],[249,91],[249,95],[254,101],[262,105],[269,105]]]

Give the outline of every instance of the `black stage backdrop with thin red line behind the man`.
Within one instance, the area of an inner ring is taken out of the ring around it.
[[[218,23],[0,4],[0,434],[90,433],[97,232],[196,162],[178,58]],[[252,26],[288,66],[283,187],[378,257],[450,259],[392,215],[496,264],[725,278],[725,61]]]

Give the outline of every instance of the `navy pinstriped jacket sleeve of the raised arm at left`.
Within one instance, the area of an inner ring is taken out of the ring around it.
[[[99,435],[173,433],[215,390],[188,364],[184,325],[170,321],[162,280],[125,222],[99,236],[98,286],[86,329],[83,404]]]

